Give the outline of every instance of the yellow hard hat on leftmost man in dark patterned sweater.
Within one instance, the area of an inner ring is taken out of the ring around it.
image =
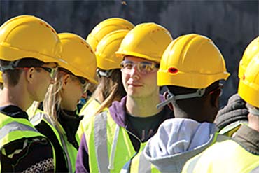
[[[61,49],[55,29],[32,15],[11,18],[0,27],[1,60],[34,57],[43,62],[58,62]]]

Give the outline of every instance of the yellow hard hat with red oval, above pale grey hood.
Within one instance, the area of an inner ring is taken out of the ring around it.
[[[225,60],[213,41],[187,34],[172,41],[162,55],[158,85],[207,88],[228,76]]]

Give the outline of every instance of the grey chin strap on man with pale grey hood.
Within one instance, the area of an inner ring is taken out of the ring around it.
[[[205,94],[206,88],[198,89],[194,93],[186,94],[186,95],[174,95],[172,92],[168,90],[168,95],[167,99],[164,102],[161,102],[160,104],[157,105],[157,109],[162,108],[163,106],[169,104],[169,103],[174,103],[176,100],[179,99],[191,99],[195,97],[202,97]]]

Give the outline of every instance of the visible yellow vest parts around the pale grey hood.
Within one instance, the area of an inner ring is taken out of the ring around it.
[[[216,141],[224,141],[226,139],[229,139],[229,138],[216,133],[214,135],[214,139],[211,141],[211,144],[214,144]],[[209,145],[207,147],[209,147]],[[204,149],[205,148],[202,148],[202,151],[204,151]],[[155,168],[155,166],[153,164],[151,164],[151,162],[146,160],[143,150],[141,153],[138,153],[137,155],[134,156],[134,158],[132,158],[132,163],[129,165],[130,166],[128,166],[128,167],[127,166],[124,167],[120,173],[157,173],[157,172],[160,172],[158,169]]]

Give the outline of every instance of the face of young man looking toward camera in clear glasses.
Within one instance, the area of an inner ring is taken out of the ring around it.
[[[127,96],[141,98],[159,95],[155,62],[132,56],[126,56],[123,62],[125,66],[121,71]]]

